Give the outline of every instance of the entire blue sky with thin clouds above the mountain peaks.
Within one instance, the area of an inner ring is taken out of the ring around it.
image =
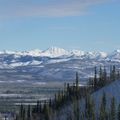
[[[120,0],[0,0],[0,50],[120,49]]]

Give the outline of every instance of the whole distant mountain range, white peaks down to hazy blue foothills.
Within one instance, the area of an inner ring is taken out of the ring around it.
[[[1,74],[3,70],[11,73],[14,70],[14,72],[38,75],[42,79],[73,79],[76,71],[82,78],[87,78],[93,75],[90,71],[95,66],[109,67],[111,64],[120,68],[120,50],[108,54],[51,47],[47,50],[0,52]]]

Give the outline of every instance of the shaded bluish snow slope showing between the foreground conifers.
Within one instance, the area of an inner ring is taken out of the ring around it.
[[[110,110],[110,104],[111,104],[112,97],[115,98],[115,105],[116,105],[116,110],[117,110],[117,107],[120,104],[120,81],[116,80],[112,82],[111,84],[109,84],[108,86],[101,88],[100,90],[96,91],[95,93],[91,95],[95,103],[96,114],[99,114],[99,108],[100,108],[103,93],[106,94],[107,111]],[[85,103],[84,99],[79,101],[80,111],[84,110],[84,103]],[[67,120],[68,117],[70,118],[73,117],[74,107],[75,107],[75,104],[69,104],[69,105],[64,106],[64,108],[62,108],[57,113],[57,117],[55,117],[55,120]]]

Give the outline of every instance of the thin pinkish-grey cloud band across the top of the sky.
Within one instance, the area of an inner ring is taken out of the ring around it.
[[[104,3],[108,0],[49,0],[44,3],[38,0],[1,0],[0,18],[5,17],[64,17],[79,16],[86,13],[92,5]],[[112,1],[112,0],[109,0]]]

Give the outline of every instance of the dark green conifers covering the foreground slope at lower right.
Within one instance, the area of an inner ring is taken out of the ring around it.
[[[65,83],[64,89],[54,95],[54,98],[36,105],[22,105],[16,120],[120,120],[120,104],[116,105],[114,96],[107,100],[103,92],[99,103],[93,94],[114,81],[120,80],[120,72],[115,66],[95,67],[94,76],[88,83],[80,85],[80,76],[76,72],[73,84]]]

